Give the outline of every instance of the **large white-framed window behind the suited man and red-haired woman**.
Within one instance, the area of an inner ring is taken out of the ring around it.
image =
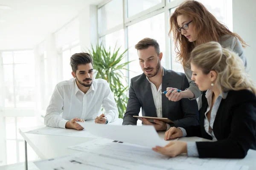
[[[107,48],[113,48],[116,42],[118,46],[124,46],[124,49],[129,48],[127,61],[134,60],[134,62],[129,64],[130,71],[126,74],[128,79],[142,73],[134,45],[145,37],[154,38],[160,44],[160,51],[163,52],[161,64],[165,68],[184,72],[182,65],[177,62],[172,35],[171,38],[168,36],[169,18],[183,1],[120,0],[118,2],[118,0],[111,0],[99,6],[99,42]],[[228,23],[230,22],[229,16],[232,16],[231,0],[198,1],[232,30],[232,24]],[[122,2],[125,4],[122,5]],[[108,22],[109,18],[112,21]],[[232,18],[230,23],[232,23]]]

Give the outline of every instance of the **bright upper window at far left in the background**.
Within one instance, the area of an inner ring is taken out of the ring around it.
[[[35,71],[33,51],[2,52],[4,107],[34,108]]]

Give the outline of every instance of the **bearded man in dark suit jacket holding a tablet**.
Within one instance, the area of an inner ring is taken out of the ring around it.
[[[174,124],[166,124],[160,120],[154,123],[143,119],[144,125],[154,125],[156,130],[168,130],[171,126],[186,127],[198,125],[198,105],[196,100],[181,99],[177,102],[161,94],[167,87],[175,87],[184,91],[189,82],[183,73],[166,70],[161,66],[163,53],[160,53],[156,40],[144,38],[135,48],[138,50],[140,66],[143,74],[131,79],[129,100],[123,119],[123,125],[136,125],[142,108],[142,116],[168,118]],[[181,93],[181,92],[180,92]]]

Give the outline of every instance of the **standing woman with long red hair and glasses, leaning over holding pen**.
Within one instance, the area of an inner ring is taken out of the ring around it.
[[[201,91],[191,79],[190,53],[198,45],[216,41],[224,48],[236,52],[247,66],[243,47],[246,43],[242,38],[220,23],[207,8],[195,0],[182,3],[170,18],[169,35],[173,33],[177,60],[183,65],[184,72],[189,81],[189,88],[178,92],[176,88],[167,88],[166,97],[177,102],[182,98],[196,99],[201,96]]]

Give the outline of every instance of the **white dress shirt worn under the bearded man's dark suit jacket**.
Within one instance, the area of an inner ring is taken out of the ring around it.
[[[163,68],[162,68],[163,70]],[[163,72],[164,75],[164,72]],[[148,79],[148,77],[146,77]],[[150,82],[151,85],[151,91],[152,91],[152,95],[153,95],[153,99],[154,99],[154,105],[156,108],[156,112],[157,112],[157,117],[163,117],[162,114],[162,83],[159,86],[158,90],[157,87],[154,85],[154,83],[152,83],[149,79],[148,82]],[[166,123],[167,125],[167,129],[169,130],[169,128],[171,127],[168,123]]]

